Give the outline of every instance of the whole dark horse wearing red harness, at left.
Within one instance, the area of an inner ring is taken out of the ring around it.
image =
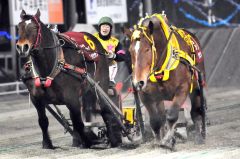
[[[66,105],[73,124],[73,146],[90,147],[92,141],[84,132],[81,109],[95,107],[96,102],[99,102],[110,144],[112,147],[118,146],[121,143],[121,130],[116,119],[84,76],[87,73],[107,92],[108,61],[103,54],[99,54],[104,53],[100,42],[85,32],[69,32],[82,40],[80,45],[74,45],[71,40],[63,39],[40,21],[39,10],[35,15],[22,11],[20,17],[22,21],[18,24],[19,40],[16,47],[20,56],[31,60],[27,69],[27,75],[30,76],[25,75],[23,81],[38,112],[43,148],[54,148],[48,134],[47,104]],[[81,50],[80,46],[85,49]],[[94,57],[97,56],[99,60],[87,61],[84,54],[89,51],[94,52]]]

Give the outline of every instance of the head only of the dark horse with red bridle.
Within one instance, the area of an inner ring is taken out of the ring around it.
[[[37,10],[37,13],[32,16],[22,10],[20,18],[21,22],[18,24],[19,40],[17,41],[16,49],[20,56],[27,57],[33,48],[40,45],[40,11]]]

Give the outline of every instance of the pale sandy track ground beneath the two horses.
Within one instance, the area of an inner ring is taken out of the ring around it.
[[[49,132],[53,144],[60,148],[41,148],[41,131],[37,113],[29,106],[28,96],[0,98],[0,159],[13,158],[172,158],[172,159],[232,159],[240,158],[240,89],[210,89],[208,96],[207,140],[204,145],[193,142],[177,143],[171,152],[147,142],[139,146],[122,146],[111,149],[80,149],[71,147],[71,136],[50,115]],[[130,101],[130,102],[129,102]],[[126,100],[125,104],[131,104]],[[61,106],[68,116],[66,109]]]

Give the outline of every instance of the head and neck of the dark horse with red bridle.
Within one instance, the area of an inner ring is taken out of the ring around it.
[[[61,54],[58,37],[41,22],[39,9],[35,15],[23,10],[20,17],[16,49],[20,56],[31,57],[38,75],[46,77],[56,67],[58,54]]]

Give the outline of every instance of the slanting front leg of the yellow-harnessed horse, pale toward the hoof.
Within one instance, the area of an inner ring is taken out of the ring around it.
[[[161,146],[169,149],[173,149],[175,145],[175,127],[178,120],[179,110],[181,105],[184,103],[188,93],[187,85],[181,87],[182,89],[177,90],[172,105],[167,109],[167,133],[161,141]]]

